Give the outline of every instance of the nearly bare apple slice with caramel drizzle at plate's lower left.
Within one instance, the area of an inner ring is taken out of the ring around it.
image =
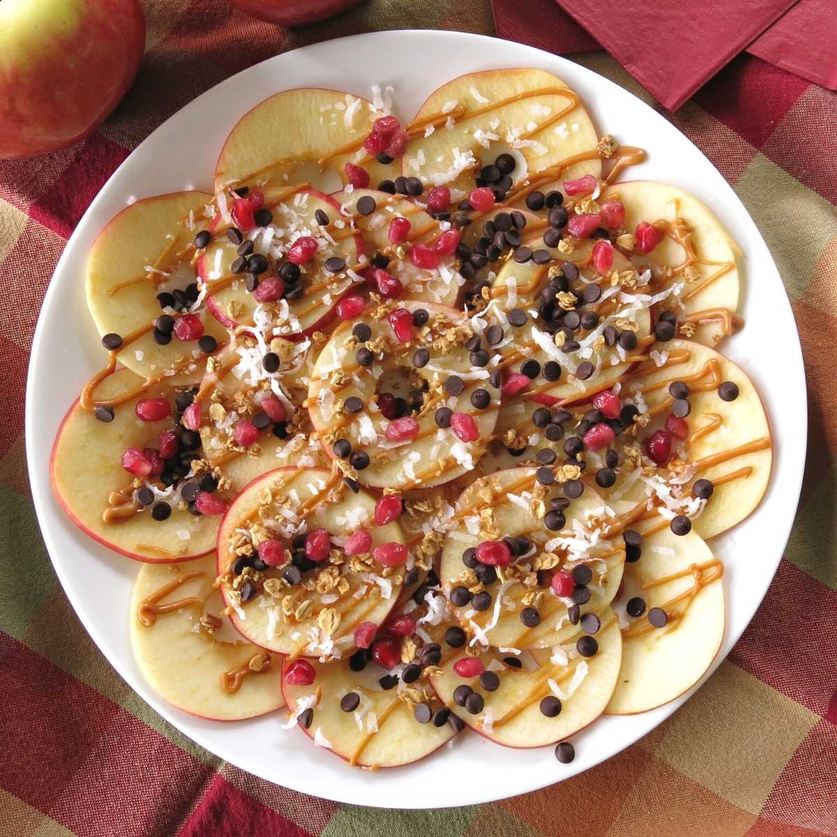
[[[131,595],[136,665],[162,698],[192,715],[240,721],[279,709],[281,658],[221,638],[220,607],[208,606],[214,580],[213,555],[141,567]]]

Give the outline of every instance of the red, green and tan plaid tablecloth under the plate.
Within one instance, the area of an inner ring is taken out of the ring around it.
[[[225,0],[146,0],[146,13],[140,74],[101,130],[48,157],[0,164],[0,834],[837,834],[835,95],[742,56],[677,113],[664,111],[756,219],[804,346],[802,501],[742,640],[675,716],[588,773],[497,804],[379,811],[294,793],[219,762],[110,668],[41,542],[23,453],[24,382],[66,239],[110,173],[167,116],[239,69],[312,41],[408,27],[494,33],[489,0],[372,0],[295,32],[246,18]],[[649,100],[607,55],[581,60]],[[757,293],[757,276],[747,278],[747,293]]]

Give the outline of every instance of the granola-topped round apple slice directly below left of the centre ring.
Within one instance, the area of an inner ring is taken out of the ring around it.
[[[357,625],[381,624],[393,608],[408,558],[398,523],[374,524],[375,503],[324,468],[280,468],[248,485],[218,530],[220,590],[234,627],[280,654],[351,652]],[[345,555],[347,537],[361,529],[371,542]],[[306,543],[306,533],[320,552]],[[257,556],[265,541],[273,547],[268,566]],[[377,547],[388,566],[377,562]]]

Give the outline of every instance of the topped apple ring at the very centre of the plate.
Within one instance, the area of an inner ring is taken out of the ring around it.
[[[413,326],[425,318],[425,325]],[[311,376],[307,403],[328,454],[336,455],[335,442],[346,439],[352,452],[340,460],[341,468],[379,488],[440,485],[471,470],[494,429],[499,393],[489,384],[488,369],[471,365],[468,318],[453,308],[405,300],[380,306],[366,324],[371,336],[364,344],[349,323],[338,327]],[[416,365],[422,350],[427,362]],[[368,352],[371,364],[358,364],[358,352],[361,359]],[[488,399],[481,408],[470,400],[477,389]],[[394,398],[402,396],[421,407],[395,419]],[[439,408],[452,411],[449,426],[437,424]]]

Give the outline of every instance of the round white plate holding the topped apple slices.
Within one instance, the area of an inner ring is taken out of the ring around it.
[[[658,179],[695,193],[714,209],[744,252],[741,313],[747,326],[722,348],[742,364],[762,394],[773,424],[773,478],[757,511],[711,544],[727,564],[728,609],[727,635],[713,670],[752,619],[790,533],[806,441],[804,371],[796,326],[755,223],[721,174],[680,131],[633,95],[578,64],[521,44],[464,33],[357,35],[296,49],[244,70],[154,131],[110,178],[69,239],[33,341],[26,440],[35,509],[55,571],[110,663],[167,721],[202,747],[288,788],[387,808],[476,804],[526,793],[628,747],[670,716],[694,689],[643,715],[596,721],[573,738],[577,755],[569,765],[557,762],[552,747],[501,749],[465,734],[454,747],[443,748],[423,762],[377,773],[347,767],[331,753],[311,746],[299,730],[281,730],[277,715],[218,723],[168,706],[146,686],[131,655],[128,602],[136,564],[76,529],[49,486],[49,450],[64,411],[104,357],[85,305],[85,260],[95,235],[129,197],[190,187],[211,192],[214,163],[229,130],[247,110],[280,90],[319,86],[368,96],[370,85],[390,84],[396,90],[398,116],[408,120],[432,90],[457,75],[524,66],[549,70],[577,90],[600,133],[613,133],[647,149],[648,162],[632,170],[630,177]],[[496,769],[500,764],[502,769]]]

